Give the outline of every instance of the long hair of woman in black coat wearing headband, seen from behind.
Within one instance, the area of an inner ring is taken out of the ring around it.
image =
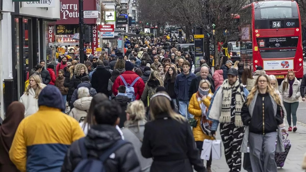
[[[164,95],[153,97],[150,102],[151,118],[154,120],[160,114],[169,114],[170,118],[183,122],[186,120],[182,115],[177,114],[171,107],[170,96],[166,92],[158,92]],[[167,95],[167,96],[165,96]],[[170,99],[169,99],[170,98]]]

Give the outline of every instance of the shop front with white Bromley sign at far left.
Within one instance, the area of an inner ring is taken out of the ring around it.
[[[4,110],[23,94],[27,72],[40,60],[52,58],[48,57],[48,23],[59,19],[60,5],[58,1],[46,4],[12,4],[14,12],[6,14],[2,21],[6,24],[6,29],[1,31],[2,36],[6,35],[1,41],[9,44],[9,48],[5,49],[9,60],[2,61],[4,70],[8,71],[3,75],[6,88],[3,97]]]

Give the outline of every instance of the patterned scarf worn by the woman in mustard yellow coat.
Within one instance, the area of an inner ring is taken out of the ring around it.
[[[211,136],[211,125],[212,122],[206,119],[206,114],[207,114],[207,110],[208,108],[204,105],[203,101],[202,101],[202,97],[206,95],[207,99],[210,101],[212,98],[212,94],[209,91],[204,91],[199,87],[199,90],[196,92],[196,99],[200,105],[201,111],[202,111],[202,116],[200,118],[200,125],[201,125],[201,129],[203,131],[203,133],[205,133],[207,136]]]

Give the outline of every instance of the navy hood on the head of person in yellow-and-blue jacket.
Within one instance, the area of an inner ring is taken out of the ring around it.
[[[47,85],[43,88],[38,96],[38,106],[47,106],[65,110],[65,103],[62,93],[54,85]]]

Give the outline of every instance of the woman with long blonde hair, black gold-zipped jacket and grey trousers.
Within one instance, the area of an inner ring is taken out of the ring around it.
[[[282,132],[282,102],[266,75],[260,75],[241,109],[241,118],[246,126],[241,152],[250,148],[252,171],[276,172],[275,152],[284,152]],[[275,146],[275,140],[276,146]]]

